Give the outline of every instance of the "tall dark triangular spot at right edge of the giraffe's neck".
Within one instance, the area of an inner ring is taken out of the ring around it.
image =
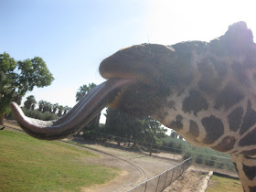
[[[251,101],[248,101],[247,111],[240,126],[240,134],[247,132],[256,123],[256,112],[251,108]]]

